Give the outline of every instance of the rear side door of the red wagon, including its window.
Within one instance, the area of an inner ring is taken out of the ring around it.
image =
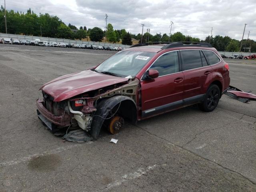
[[[184,73],[184,105],[201,101],[212,68],[201,50],[180,50],[180,54]]]

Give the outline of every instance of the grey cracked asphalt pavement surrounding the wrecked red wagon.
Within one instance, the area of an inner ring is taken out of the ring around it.
[[[256,101],[224,95],[213,112],[190,106],[81,144],[43,126],[40,86],[114,53],[0,44],[1,192],[256,191]],[[230,85],[256,94],[256,60],[225,61]]]

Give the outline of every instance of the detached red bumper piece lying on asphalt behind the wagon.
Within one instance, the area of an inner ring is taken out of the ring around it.
[[[256,95],[250,93],[252,91],[243,91],[236,87],[229,86],[227,92],[225,93],[227,96],[230,96],[238,101],[243,103],[247,103],[250,100],[256,100]]]

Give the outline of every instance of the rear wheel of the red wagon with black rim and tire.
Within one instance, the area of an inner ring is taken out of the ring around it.
[[[211,84],[208,88],[204,101],[199,104],[201,110],[205,112],[213,111],[218,105],[220,100],[220,89],[217,85]]]

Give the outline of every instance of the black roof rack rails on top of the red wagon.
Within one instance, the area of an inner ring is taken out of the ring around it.
[[[205,42],[148,42],[148,43],[142,43],[142,44],[136,44],[132,47],[137,47],[137,46],[146,46],[146,45],[164,45],[161,49],[168,49],[172,47],[183,47],[183,46],[198,46],[198,47],[212,47],[210,43],[205,43]]]

